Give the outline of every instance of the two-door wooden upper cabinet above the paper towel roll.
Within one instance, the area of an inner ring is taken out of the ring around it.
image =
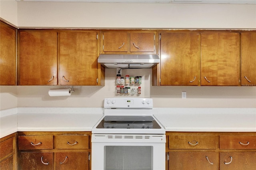
[[[19,85],[98,85],[97,31],[20,31]]]

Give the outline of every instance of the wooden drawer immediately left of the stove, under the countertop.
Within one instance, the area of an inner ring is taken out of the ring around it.
[[[57,149],[88,149],[89,136],[88,135],[57,135],[56,148]]]

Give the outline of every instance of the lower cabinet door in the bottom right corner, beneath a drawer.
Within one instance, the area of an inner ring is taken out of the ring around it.
[[[256,152],[221,152],[220,170],[256,170]]]

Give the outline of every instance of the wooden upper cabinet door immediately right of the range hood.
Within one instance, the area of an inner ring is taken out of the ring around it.
[[[196,32],[161,32],[161,85],[198,85],[200,40]]]

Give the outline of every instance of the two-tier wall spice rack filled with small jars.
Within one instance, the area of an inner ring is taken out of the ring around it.
[[[116,95],[140,95],[141,87],[135,86],[142,83],[142,77],[121,77],[121,75],[116,75]]]

